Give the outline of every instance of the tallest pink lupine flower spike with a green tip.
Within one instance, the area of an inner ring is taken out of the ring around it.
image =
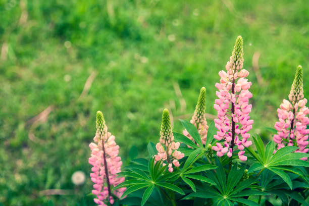
[[[213,149],[217,151],[217,156],[222,157],[227,153],[232,157],[234,146],[240,150],[238,157],[241,161],[246,161],[244,147],[252,144],[248,141],[252,129],[253,120],[249,120],[249,113],[252,106],[249,105],[249,98],[252,93],[248,90],[251,82],[245,78],[249,72],[243,67],[242,38],[238,36],[235,42],[230,61],[226,64],[227,72],[220,71],[220,83],[216,83],[219,91],[216,92],[219,99],[216,99],[214,108],[218,112],[218,119],[215,119],[215,126],[218,129],[214,136],[217,140],[224,139],[223,145],[216,143]]]

